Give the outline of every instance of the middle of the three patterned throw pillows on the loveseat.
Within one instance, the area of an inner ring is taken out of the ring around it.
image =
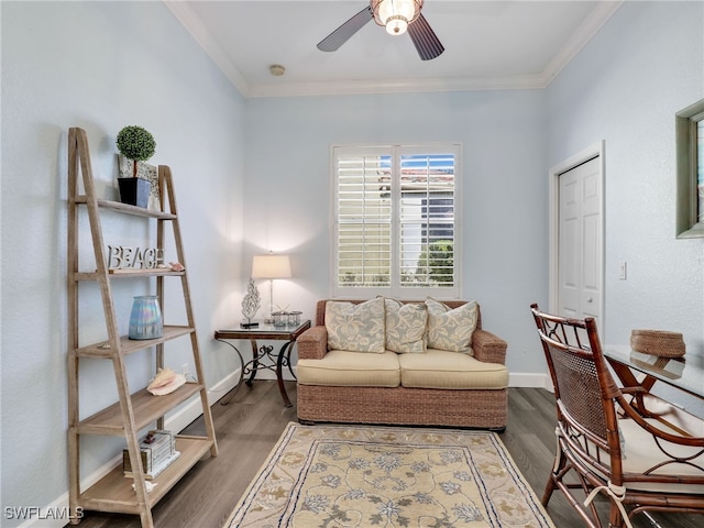
[[[385,299],[386,305],[386,350],[399,353],[426,352],[426,305],[402,304]]]

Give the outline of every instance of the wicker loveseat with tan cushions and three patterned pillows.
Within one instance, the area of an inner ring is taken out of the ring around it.
[[[304,424],[506,428],[507,344],[474,301],[319,300],[297,344]]]

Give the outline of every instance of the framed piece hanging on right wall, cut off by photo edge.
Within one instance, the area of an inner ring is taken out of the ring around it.
[[[704,238],[704,99],[674,117],[676,238]]]

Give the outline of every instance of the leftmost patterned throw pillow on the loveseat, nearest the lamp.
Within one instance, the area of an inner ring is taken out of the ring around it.
[[[384,353],[384,299],[326,302],[328,350]]]

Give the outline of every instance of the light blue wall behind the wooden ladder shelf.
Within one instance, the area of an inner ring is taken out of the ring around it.
[[[212,386],[235,367],[232,354],[211,337],[230,320],[242,292],[244,99],[161,2],[2,2],[1,9],[0,524],[14,526],[16,520],[4,517],[6,506],[44,507],[68,490],[68,128],[86,129],[94,172],[107,198],[116,196],[118,131],[141,124],[154,134],[151,162],[168,164],[174,173],[199,341]],[[143,221],[105,218],[106,243],[144,245]],[[89,249],[88,241],[86,228],[84,248]],[[118,306],[124,327],[131,296],[148,288],[120,283],[114,289],[124,298]],[[97,292],[81,285],[84,344],[105,336]],[[153,366],[146,354],[134,355],[128,366],[136,389]],[[167,364],[180,369],[182,358],[187,354],[177,353]],[[86,417],[117,393],[109,362],[82,363]],[[86,439],[84,476],[124,444],[107,440]]]

